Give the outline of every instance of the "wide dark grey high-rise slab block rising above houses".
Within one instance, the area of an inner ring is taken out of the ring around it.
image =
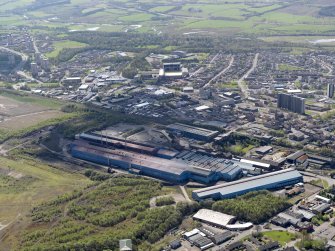
[[[294,113],[305,114],[305,99],[290,94],[279,93],[278,108],[287,109]]]

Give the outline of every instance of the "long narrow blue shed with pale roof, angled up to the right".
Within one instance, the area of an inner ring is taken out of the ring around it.
[[[198,201],[210,198],[229,199],[252,191],[279,189],[299,182],[303,182],[302,175],[294,169],[286,169],[195,190],[192,197]]]

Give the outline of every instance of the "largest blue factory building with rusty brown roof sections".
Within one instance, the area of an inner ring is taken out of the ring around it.
[[[71,145],[71,154],[75,158],[172,183],[190,180],[205,184],[219,180],[232,181],[241,176],[245,165],[192,151],[176,154],[169,149],[104,138],[101,135],[80,134],[77,138]]]

